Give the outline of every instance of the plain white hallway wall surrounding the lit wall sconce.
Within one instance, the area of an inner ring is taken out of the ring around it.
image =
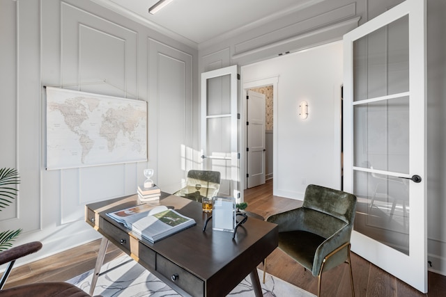
[[[274,195],[303,199],[308,184],[341,187],[342,44],[334,42],[242,67],[242,83],[278,76],[274,99]],[[299,116],[308,103],[308,118]]]

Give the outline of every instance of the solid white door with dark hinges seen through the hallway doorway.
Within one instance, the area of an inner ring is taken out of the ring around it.
[[[265,184],[265,95],[247,94],[247,187]]]

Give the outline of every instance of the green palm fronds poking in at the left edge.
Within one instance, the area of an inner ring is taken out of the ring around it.
[[[17,196],[17,184],[20,184],[19,172],[14,168],[0,168],[0,211],[13,203]],[[13,246],[13,241],[22,229],[0,232],[0,251]]]

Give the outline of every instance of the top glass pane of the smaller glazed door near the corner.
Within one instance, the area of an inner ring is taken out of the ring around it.
[[[207,80],[207,115],[231,113],[231,74]]]

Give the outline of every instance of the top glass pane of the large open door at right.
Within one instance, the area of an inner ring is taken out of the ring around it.
[[[353,101],[409,90],[408,15],[353,42]]]

